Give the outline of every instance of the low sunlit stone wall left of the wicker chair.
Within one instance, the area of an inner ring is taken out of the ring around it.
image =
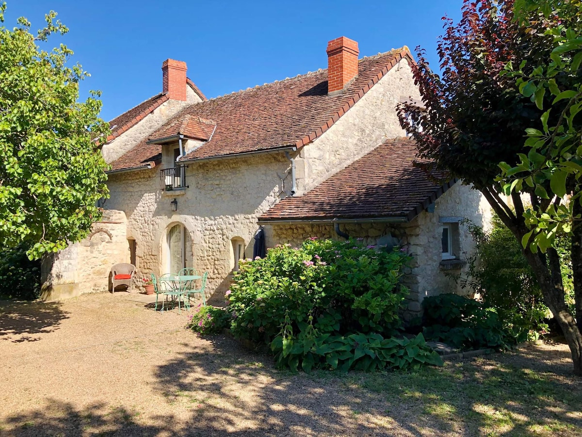
[[[126,227],[125,213],[105,211],[87,238],[45,257],[41,266],[41,298],[54,301],[107,291],[111,267],[130,261]]]

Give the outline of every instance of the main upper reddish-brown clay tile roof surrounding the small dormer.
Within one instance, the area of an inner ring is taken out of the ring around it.
[[[300,148],[327,131],[403,58],[413,61],[406,47],[360,59],[356,79],[335,96],[327,95],[324,69],[191,105],[166,125],[186,115],[212,120],[217,125],[212,139],[182,160]],[[112,170],[140,167],[144,158],[159,153],[161,146],[145,145],[144,141],[113,161]]]

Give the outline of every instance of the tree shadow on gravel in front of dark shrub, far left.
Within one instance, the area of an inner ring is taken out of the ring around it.
[[[60,302],[0,302],[0,341],[38,341],[39,334],[58,329],[68,312]]]

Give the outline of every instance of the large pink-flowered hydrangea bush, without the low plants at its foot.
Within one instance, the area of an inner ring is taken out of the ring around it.
[[[242,263],[227,292],[233,334],[270,344],[283,327],[297,333],[304,323],[340,335],[391,334],[408,294],[399,283],[408,259],[353,240],[269,249],[265,258]]]

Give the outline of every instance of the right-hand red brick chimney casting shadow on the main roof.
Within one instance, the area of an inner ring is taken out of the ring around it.
[[[358,43],[339,37],[328,43],[328,95],[343,90],[358,74]]]

